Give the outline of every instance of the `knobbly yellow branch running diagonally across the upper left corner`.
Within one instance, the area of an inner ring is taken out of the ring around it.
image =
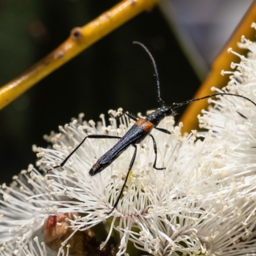
[[[82,28],[74,28],[63,44],[19,77],[0,88],[0,109],[127,20],[152,8],[157,1],[124,0]]]

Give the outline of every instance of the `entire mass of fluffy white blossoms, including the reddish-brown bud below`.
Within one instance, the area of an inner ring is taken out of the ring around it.
[[[242,46],[252,53],[232,64],[238,69],[223,90],[256,101],[256,44],[243,38]],[[41,157],[40,170],[51,172],[43,177],[30,166],[20,176],[24,182],[15,177],[18,184],[1,188],[0,255],[81,255],[91,247],[97,255],[136,255],[131,244],[150,255],[255,255],[256,107],[237,97],[212,102],[214,108],[200,117],[207,132],[182,136],[182,124],[173,126],[172,117],[159,124],[171,135],[152,131],[157,167],[165,170],[152,166],[149,136],[138,145],[124,193],[110,214],[106,212],[124,184],[133,147],[91,177],[90,168],[118,140],[88,138],[62,168],[52,168],[84,137],[124,136],[134,121],[122,116],[120,125],[111,118],[106,126],[101,115],[102,122],[95,125],[79,115],[60,133],[45,136],[53,148],[34,149]],[[19,236],[6,237],[10,230]]]

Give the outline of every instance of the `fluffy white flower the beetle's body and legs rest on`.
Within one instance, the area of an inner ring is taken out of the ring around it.
[[[70,125],[60,127],[60,134],[47,138],[56,143],[54,149],[42,149],[45,153],[40,159],[42,168],[44,164],[47,168],[60,164],[87,134],[108,131],[110,135],[123,136],[132,125],[127,118],[122,119],[120,127],[115,120],[108,127],[102,124],[95,127],[94,122],[90,122],[89,125],[80,116]],[[158,145],[157,166],[165,166],[166,170],[152,167],[154,150],[152,141],[146,138],[138,148],[124,196],[109,215],[105,213],[112,209],[118,189],[122,188],[133,148],[106,170],[90,177],[88,170],[117,140],[86,140],[63,170],[59,168],[49,173],[55,180],[51,184],[51,195],[71,199],[56,202],[58,214],[76,212],[76,220],[70,220],[74,230],[88,230],[108,219],[109,235],[102,247],[115,228],[121,239],[118,255],[126,252],[129,241],[154,255],[211,255],[238,248],[241,244],[234,246],[234,243],[251,234],[252,228],[248,230],[243,224],[249,214],[239,216],[237,212],[252,211],[254,204],[250,207],[244,204],[245,192],[236,194],[236,189],[242,191],[242,186],[236,188],[233,180],[212,173],[214,166],[223,165],[218,155],[212,156],[218,148],[212,132],[200,135],[205,140],[195,143],[196,131],[188,137],[181,136],[180,126],[173,127],[173,118],[164,119],[159,127],[172,132],[172,135],[152,132]],[[224,183],[227,188],[223,188]],[[250,225],[253,219],[247,221]],[[64,243],[68,243],[68,239]]]

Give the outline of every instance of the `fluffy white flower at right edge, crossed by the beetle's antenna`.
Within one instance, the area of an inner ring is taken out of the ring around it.
[[[242,42],[240,47],[250,50],[248,58],[228,49],[239,56],[241,62],[232,63],[231,67],[236,68],[234,72],[223,72],[231,75],[230,82],[223,90],[217,91],[239,93],[256,102],[256,44],[244,37]],[[223,159],[223,166],[218,166],[216,172],[231,176],[234,182],[239,182],[243,177],[245,183],[246,180],[254,181],[256,107],[249,101],[232,96],[220,97],[219,100],[212,100],[212,103],[215,104],[214,108],[204,111],[199,121],[201,127],[211,129],[216,138],[216,150]]]

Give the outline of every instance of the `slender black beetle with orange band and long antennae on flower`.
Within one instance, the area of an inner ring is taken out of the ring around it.
[[[122,193],[124,191],[125,188],[125,184],[127,182],[127,179],[129,177],[129,173],[131,172],[132,166],[134,164],[135,158],[136,158],[136,153],[137,153],[137,146],[136,144],[140,143],[141,141],[143,141],[145,139],[146,136],[150,136],[152,138],[153,141],[153,145],[154,145],[154,152],[155,152],[155,161],[153,164],[153,168],[156,170],[164,170],[165,168],[157,168],[156,167],[156,161],[157,161],[157,147],[156,147],[156,141],[154,139],[154,137],[152,136],[152,134],[150,134],[150,132],[152,131],[152,129],[156,129],[158,131],[164,132],[166,134],[171,134],[168,130],[166,129],[162,129],[162,128],[157,128],[157,125],[159,124],[159,122],[161,122],[161,120],[164,119],[165,116],[171,116],[173,115],[173,109],[175,108],[179,108],[180,106],[189,104],[191,102],[197,101],[197,100],[203,100],[203,99],[207,99],[210,97],[214,97],[217,95],[232,95],[232,96],[236,96],[236,97],[241,97],[243,99],[246,99],[250,102],[252,102],[253,105],[256,106],[255,102],[253,102],[252,100],[242,96],[242,95],[237,95],[234,93],[214,93],[211,95],[207,95],[205,97],[202,98],[198,98],[198,99],[192,99],[192,100],[188,100],[182,103],[173,103],[172,106],[170,107],[166,107],[164,106],[164,101],[161,98],[160,95],[160,82],[159,82],[159,77],[158,77],[158,72],[157,72],[157,67],[156,67],[156,62],[152,56],[152,54],[148,51],[147,47],[145,47],[145,45],[141,44],[140,42],[133,42],[133,44],[138,44],[141,45],[141,47],[143,47],[143,49],[145,49],[145,51],[147,52],[148,56],[150,57],[153,67],[154,67],[154,75],[156,76],[156,83],[157,83],[157,99],[158,102],[160,104],[160,108],[157,109],[156,111],[150,113],[148,116],[146,116],[146,118],[136,118],[135,116],[131,115],[129,112],[125,112],[122,113],[121,115],[118,116],[114,116],[113,113],[109,113],[109,115],[112,118],[115,118],[116,120],[118,118],[120,118],[122,115],[127,115],[129,116],[129,118],[131,118],[132,120],[135,121],[135,124],[131,127],[131,129],[129,129],[129,131],[127,131],[123,137],[120,136],[111,136],[111,135],[102,135],[102,134],[92,134],[92,135],[88,135],[86,136],[81,143],[79,143],[79,145],[77,145],[77,147],[64,159],[64,161],[58,165],[58,166],[54,166],[54,169],[59,168],[59,167],[63,167],[65,163],[67,163],[68,159],[76,152],[76,150],[84,143],[84,141],[87,138],[94,138],[94,139],[120,139],[111,149],[108,150],[108,152],[106,152],[103,156],[101,156],[97,162],[92,166],[91,170],[89,171],[89,174],[91,176],[94,176],[95,174],[102,172],[105,168],[107,168],[111,163],[113,163],[113,161],[115,161],[115,159],[117,157],[120,156],[120,154],[122,154],[122,152],[124,152],[129,146],[134,147],[134,154],[132,156],[131,159],[131,163],[129,165],[128,168],[128,172],[127,175],[125,177],[124,180],[124,184],[120,190],[120,193],[116,199],[115,204],[113,205],[113,208],[111,209],[111,211],[106,212],[106,214],[111,214],[111,212],[114,211],[114,209],[116,208],[116,206],[118,205],[118,202],[122,196]],[[49,172],[50,170],[48,170]]]

